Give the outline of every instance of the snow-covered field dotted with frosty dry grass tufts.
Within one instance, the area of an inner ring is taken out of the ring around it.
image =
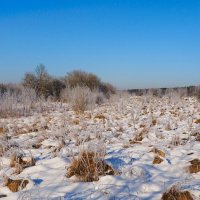
[[[200,172],[188,170],[189,161],[200,159],[198,119],[195,98],[148,95],[113,97],[82,115],[68,104],[51,103],[43,113],[0,119],[0,196],[157,200],[177,185],[200,199]],[[67,178],[67,168],[83,149],[103,149],[105,162],[117,173],[94,182]],[[10,166],[14,152],[33,157],[35,165],[16,173]],[[155,156],[162,162],[153,164]],[[29,183],[14,193],[5,176]]]

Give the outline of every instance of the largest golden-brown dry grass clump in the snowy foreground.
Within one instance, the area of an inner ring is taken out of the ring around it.
[[[83,151],[78,158],[74,158],[67,170],[67,178],[76,176],[83,182],[98,181],[99,176],[115,174],[97,153],[90,151]]]

